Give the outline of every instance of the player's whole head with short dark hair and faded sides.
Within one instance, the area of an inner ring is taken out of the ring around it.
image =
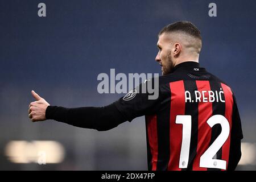
[[[162,65],[163,75],[171,73],[172,68],[181,62],[189,60],[198,63],[202,40],[200,31],[192,23],[170,24],[159,32],[158,38],[156,61]],[[179,59],[176,59],[177,56]]]

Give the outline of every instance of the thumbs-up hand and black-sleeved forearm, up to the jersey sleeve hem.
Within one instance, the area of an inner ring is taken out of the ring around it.
[[[66,108],[51,106],[33,90],[31,93],[36,99],[30,103],[28,109],[28,117],[32,122],[53,119],[77,127],[105,131],[127,121],[114,104],[104,107]]]

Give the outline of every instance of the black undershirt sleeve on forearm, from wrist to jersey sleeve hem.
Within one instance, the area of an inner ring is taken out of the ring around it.
[[[46,119],[67,123],[86,129],[106,131],[127,121],[114,104],[104,107],[67,108],[48,106]]]

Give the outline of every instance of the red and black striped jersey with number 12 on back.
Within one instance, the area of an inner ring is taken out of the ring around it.
[[[195,62],[158,77],[158,98],[137,92],[154,79],[115,102],[128,121],[145,115],[148,169],[235,169],[243,134],[232,89]]]

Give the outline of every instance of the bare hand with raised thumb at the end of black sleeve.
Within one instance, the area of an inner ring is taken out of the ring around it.
[[[35,98],[35,102],[31,102],[28,106],[28,117],[32,122],[46,120],[46,108],[49,103],[40,97],[34,90],[31,91],[32,96]]]

